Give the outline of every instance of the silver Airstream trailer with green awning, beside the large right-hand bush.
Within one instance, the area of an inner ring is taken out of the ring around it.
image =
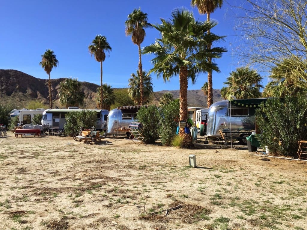
[[[267,98],[233,99],[213,103],[207,115],[207,136],[220,137],[219,130],[231,132],[235,139],[239,137],[241,144],[246,144],[244,137],[255,131],[255,110]]]

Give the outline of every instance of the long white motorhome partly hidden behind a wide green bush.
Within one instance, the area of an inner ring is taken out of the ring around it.
[[[49,128],[62,129],[66,124],[65,115],[69,112],[82,111],[83,109],[46,109],[41,119],[42,125],[48,125]],[[96,130],[106,130],[106,121],[109,111],[106,109],[87,109],[97,112]]]

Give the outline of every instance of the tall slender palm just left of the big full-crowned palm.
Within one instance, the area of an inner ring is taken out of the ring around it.
[[[142,57],[141,57],[141,43],[145,38],[144,28],[151,27],[152,25],[147,22],[147,13],[143,13],[141,9],[134,9],[132,13],[128,15],[128,20],[125,21],[126,35],[131,35],[131,40],[134,44],[138,45],[138,71],[140,73],[140,94],[141,100],[139,105],[143,105],[144,99],[144,86],[143,86],[143,69],[142,69]]]

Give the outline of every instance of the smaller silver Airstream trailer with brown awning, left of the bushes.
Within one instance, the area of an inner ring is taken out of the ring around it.
[[[126,130],[131,122],[136,122],[136,114],[141,107],[147,108],[147,105],[132,105],[132,106],[120,106],[116,109],[112,109],[107,119],[107,134],[119,134],[120,132],[115,130]],[[130,133],[124,133],[130,136]]]

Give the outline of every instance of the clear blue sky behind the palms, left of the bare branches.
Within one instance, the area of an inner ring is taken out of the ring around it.
[[[216,59],[221,72],[213,72],[213,88],[221,89],[223,82],[241,65],[231,55],[236,43],[235,17],[230,5],[235,1],[224,1],[223,7],[211,14],[218,21],[212,33],[227,36],[225,42],[215,46],[226,47],[227,53]],[[100,63],[88,52],[88,45],[97,34],[107,37],[112,47],[110,56],[103,62],[103,83],[113,88],[128,87],[131,73],[138,68],[138,47],[125,35],[125,21],[135,8],[148,14],[150,23],[160,23],[160,18],[170,18],[176,7],[184,6],[194,12],[196,19],[206,20],[189,0],[156,1],[2,1],[0,14],[0,69],[16,69],[40,79],[48,75],[39,65],[41,55],[52,49],[59,66],[52,69],[51,78],[77,78],[100,85]],[[154,43],[159,38],[156,29],[146,29],[146,38],[141,47]],[[143,70],[152,68],[153,55],[143,55]],[[152,74],[153,91],[178,90],[179,79],[173,77],[164,83]],[[198,90],[207,81],[207,73],[197,77],[196,84],[189,83],[188,90]]]

